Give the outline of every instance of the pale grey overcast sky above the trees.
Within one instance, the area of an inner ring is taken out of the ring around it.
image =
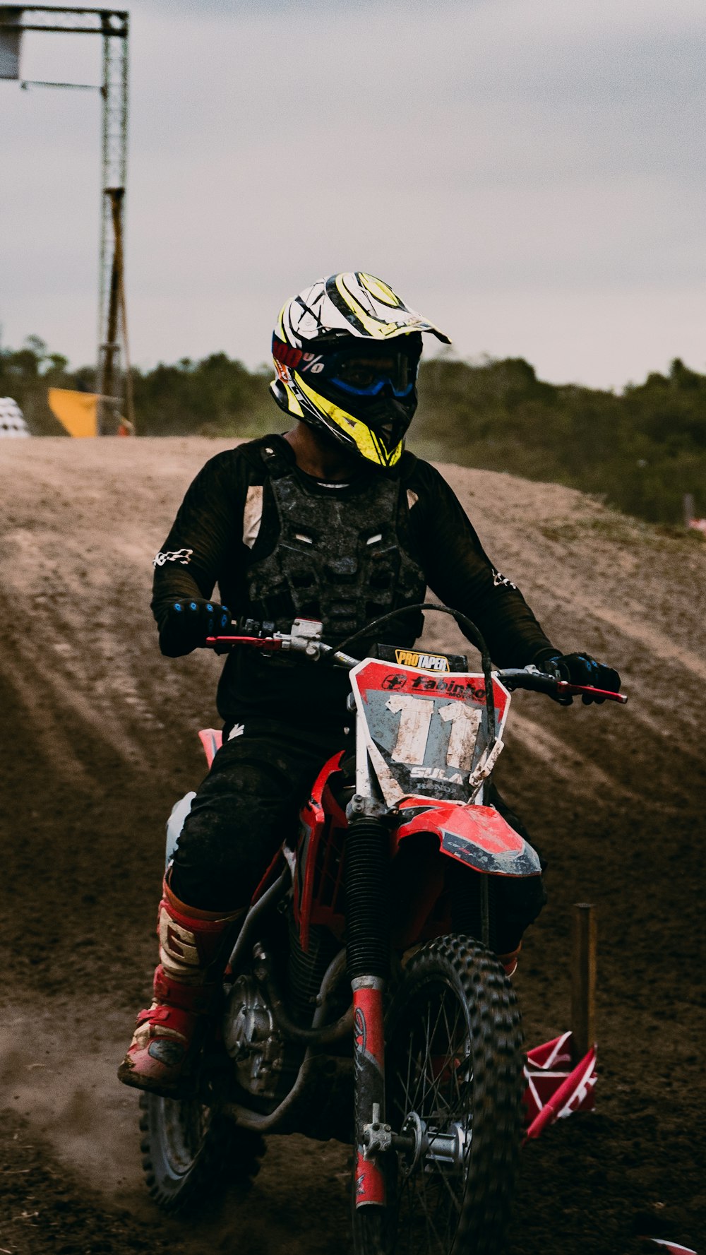
[[[463,358],[601,388],[706,370],[703,0],[129,9],[139,365],[255,366],[286,299],[366,270]],[[99,40],[28,35],[21,74],[97,83]],[[0,83],[3,343],[74,365],[95,354],[99,141],[97,95]]]

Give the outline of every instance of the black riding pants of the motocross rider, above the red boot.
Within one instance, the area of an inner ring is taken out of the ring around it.
[[[192,801],[172,868],[182,902],[204,911],[247,906],[285,837],[295,838],[297,812],[316,774],[346,745],[340,728],[292,730],[267,719],[236,724]],[[520,820],[492,787],[488,802],[529,840]],[[510,950],[542,910],[540,877],[497,877],[503,945]]]

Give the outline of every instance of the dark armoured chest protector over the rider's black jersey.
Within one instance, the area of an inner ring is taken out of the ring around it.
[[[400,479],[371,474],[361,487],[317,492],[281,453],[262,449],[262,457],[268,471],[263,518],[246,571],[253,619],[273,622],[277,631],[288,630],[296,617],[317,619],[324,640],[334,645],[379,615],[424,601],[426,580],[411,552]],[[278,522],[273,547],[273,528],[266,526],[272,507]],[[268,553],[258,552],[261,541]],[[374,635],[411,645],[421,626],[421,614],[413,611]]]

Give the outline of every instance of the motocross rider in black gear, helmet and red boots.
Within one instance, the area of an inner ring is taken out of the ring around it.
[[[324,640],[339,644],[379,615],[424,601],[429,585],[478,624],[497,665],[533,663],[574,684],[619,688],[611,668],[552,645],[451,488],[405,451],[423,333],[449,343],[359,271],[330,275],[287,301],[272,339],[271,389],[293,425],[218,453],[191,484],[154,561],[163,654],[177,658],[231,633],[233,614],[268,633],[288,631],[297,616],[321,620]],[[376,636],[408,648],[420,631],[421,616],[410,611]],[[355,654],[370,644],[359,641]],[[226,659],[223,745],[164,880],[153,1003],[138,1015],[118,1072],[127,1084],[188,1092],[226,940],[317,771],[345,747],[349,690],[335,668],[247,648]],[[522,831],[497,792],[489,801]],[[512,971],[544,894],[539,877],[500,885],[498,949]]]

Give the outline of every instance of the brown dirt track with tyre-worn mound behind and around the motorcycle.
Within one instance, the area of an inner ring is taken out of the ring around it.
[[[134,1096],[114,1082],[153,963],[164,820],[203,774],[196,730],[217,718],[218,661],[158,654],[150,558],[222,447],[0,446],[11,1255],[347,1249],[345,1152],[302,1140],[272,1140],[250,1199],[227,1200],[207,1230],[163,1221],[139,1177]],[[512,1255],[660,1250],[645,1234],[703,1255],[706,545],[559,487],[445,473],[552,639],[609,659],[631,697],[624,710],[561,710],[524,694],[507,729],[498,779],[551,861],[518,980],[527,1035],[568,1028],[569,909],[589,900],[602,1060],[598,1113],[524,1153]],[[445,624],[429,639],[456,640]]]

